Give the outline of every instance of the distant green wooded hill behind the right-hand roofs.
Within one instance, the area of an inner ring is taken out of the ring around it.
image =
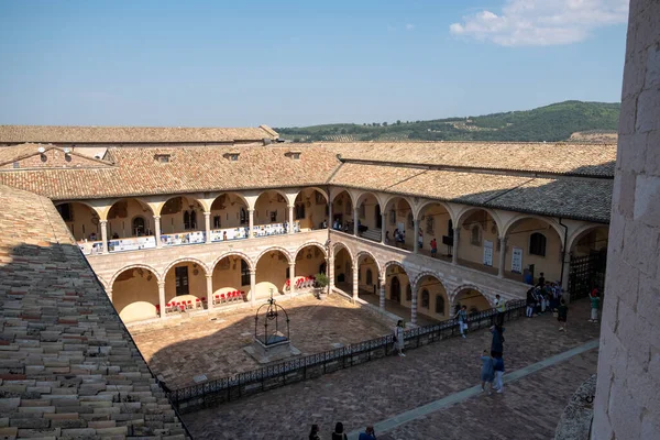
[[[564,101],[534,110],[432,121],[340,123],[275,129],[294,142],[354,141],[592,141],[616,139],[618,102]]]

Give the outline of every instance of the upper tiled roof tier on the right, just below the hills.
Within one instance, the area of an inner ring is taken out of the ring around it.
[[[614,176],[616,144],[398,142],[322,143],[345,160],[446,167]]]

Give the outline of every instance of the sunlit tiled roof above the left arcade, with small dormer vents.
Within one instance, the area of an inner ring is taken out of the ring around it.
[[[111,147],[113,167],[0,172],[0,184],[52,199],[128,197],[155,194],[324,185],[339,162],[330,151],[287,146]],[[239,160],[226,157],[239,152]],[[169,163],[155,161],[168,154]]]

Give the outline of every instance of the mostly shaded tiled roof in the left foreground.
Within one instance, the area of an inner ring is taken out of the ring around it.
[[[2,185],[0,204],[0,437],[183,438],[53,204]]]

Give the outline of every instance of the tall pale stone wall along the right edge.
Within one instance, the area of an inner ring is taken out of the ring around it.
[[[592,439],[660,432],[660,1],[632,0]]]

